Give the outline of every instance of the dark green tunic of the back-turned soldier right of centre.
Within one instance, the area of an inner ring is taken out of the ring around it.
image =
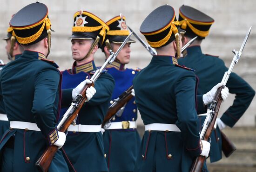
[[[196,77],[171,56],[153,56],[135,76],[135,102],[145,125],[175,124],[181,132],[145,131],[134,172],[188,172],[201,153]],[[202,96],[198,97],[202,106]]]

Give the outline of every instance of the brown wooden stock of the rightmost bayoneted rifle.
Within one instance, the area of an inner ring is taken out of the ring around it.
[[[213,115],[212,120],[209,122],[207,130],[206,130],[206,132],[204,134],[203,140],[208,141],[209,137],[211,135],[211,132],[214,129],[214,125],[215,125],[215,122],[216,122],[216,119],[217,119],[217,115],[218,115],[218,112],[219,112],[219,109],[220,109],[220,106],[221,106],[221,103],[222,103],[221,90],[223,88],[224,88],[224,86],[218,88],[218,90],[217,90],[217,92],[215,94],[215,97],[214,97],[214,101],[211,103],[211,105],[209,107],[209,108],[212,108],[211,110],[214,112],[214,115]],[[202,171],[202,166],[203,166],[203,163],[204,163],[205,159],[206,159],[205,156],[201,156],[201,155],[198,156],[194,160],[190,172],[201,172]]]

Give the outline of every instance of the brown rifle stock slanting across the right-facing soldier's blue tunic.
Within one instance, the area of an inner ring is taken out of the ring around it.
[[[108,108],[107,115],[105,116],[101,127],[103,128],[105,124],[122,108],[129,100],[133,98],[131,95],[133,85],[124,91],[119,97],[118,100],[113,102],[113,104]]]

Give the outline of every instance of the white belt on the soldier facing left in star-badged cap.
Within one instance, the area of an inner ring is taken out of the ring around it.
[[[67,131],[72,131],[74,132],[100,132],[101,131],[101,124],[100,125],[73,125],[71,124],[68,128]]]

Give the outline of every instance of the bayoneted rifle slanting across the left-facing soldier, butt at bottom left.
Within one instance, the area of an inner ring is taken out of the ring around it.
[[[119,49],[116,52],[112,52],[111,50],[109,51],[110,56],[108,57],[108,59],[101,66],[101,69],[96,70],[96,72],[90,79],[92,81],[92,83],[86,84],[84,86],[84,88],[82,89],[80,94],[78,94],[74,98],[73,102],[71,103],[71,106],[67,109],[67,112],[63,115],[61,121],[57,125],[58,131],[66,132],[67,128],[75,120],[80,109],[82,108],[84,102],[87,99],[86,90],[89,87],[94,86],[95,81],[101,75],[101,73],[105,69],[105,67],[108,64],[111,64],[115,60],[115,57],[118,55],[118,53],[121,51],[121,49],[126,44],[128,39],[131,37],[131,34],[132,34],[132,32],[128,35],[128,37],[124,40],[124,42],[121,44],[121,46],[119,47]],[[40,172],[47,172],[49,166],[51,165],[52,159],[54,158],[54,154],[57,152],[57,150],[58,150],[58,147],[55,145],[51,145],[51,146],[47,147],[45,152],[41,155],[41,157],[37,160],[37,162],[35,164],[37,166],[37,169]]]

